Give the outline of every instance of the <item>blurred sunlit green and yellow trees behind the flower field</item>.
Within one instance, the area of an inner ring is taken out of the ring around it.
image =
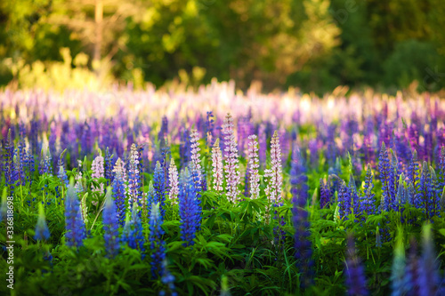
[[[445,87],[443,0],[6,0],[0,85]]]

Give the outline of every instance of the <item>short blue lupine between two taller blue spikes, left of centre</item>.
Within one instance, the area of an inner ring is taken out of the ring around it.
[[[133,204],[132,218],[126,216],[124,231],[122,233],[122,243],[128,244],[128,246],[134,250],[138,250],[142,254],[142,259],[145,257],[145,238],[143,236],[142,222],[138,213],[138,206]]]

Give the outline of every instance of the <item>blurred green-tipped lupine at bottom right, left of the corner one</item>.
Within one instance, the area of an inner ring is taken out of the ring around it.
[[[405,275],[406,262],[402,229],[403,228],[399,228],[398,230],[397,241],[394,249],[394,260],[392,261],[392,296],[406,295],[409,287],[407,276]]]

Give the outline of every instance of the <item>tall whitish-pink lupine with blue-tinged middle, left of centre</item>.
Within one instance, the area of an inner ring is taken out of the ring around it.
[[[132,144],[128,163],[128,204],[133,207],[136,203],[142,206],[142,192],[139,171],[139,152],[135,144]]]

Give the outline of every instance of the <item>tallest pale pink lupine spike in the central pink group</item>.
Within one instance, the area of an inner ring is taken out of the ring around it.
[[[227,114],[223,124],[223,133],[225,134],[225,176],[227,181],[227,197],[231,203],[238,201],[239,196],[239,159],[237,141],[235,140],[235,132],[233,130],[233,118],[231,114]]]

